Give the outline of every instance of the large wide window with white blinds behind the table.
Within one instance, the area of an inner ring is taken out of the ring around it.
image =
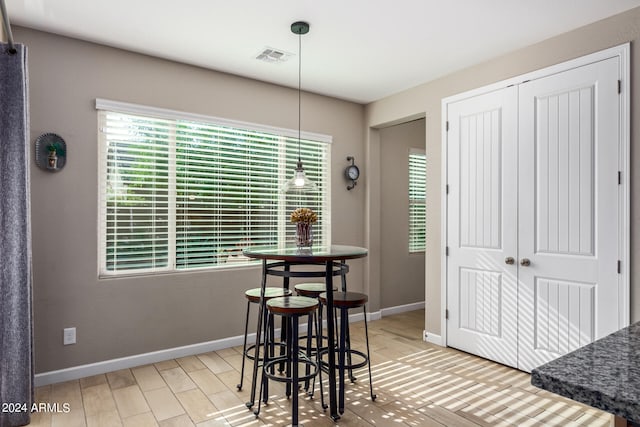
[[[242,248],[294,240],[289,213],[318,214],[330,235],[330,137],[302,134],[313,195],[279,190],[298,157],[297,130],[96,100],[100,274],[246,263]]]

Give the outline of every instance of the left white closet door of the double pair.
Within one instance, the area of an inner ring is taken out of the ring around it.
[[[517,364],[516,88],[448,106],[448,345]]]

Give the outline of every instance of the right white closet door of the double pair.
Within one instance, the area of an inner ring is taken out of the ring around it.
[[[519,86],[518,368],[619,329],[617,60]]]

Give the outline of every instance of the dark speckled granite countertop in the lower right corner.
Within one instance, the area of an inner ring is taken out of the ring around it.
[[[535,368],[531,384],[640,423],[640,322]]]

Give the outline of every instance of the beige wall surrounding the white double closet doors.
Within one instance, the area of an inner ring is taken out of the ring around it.
[[[596,22],[575,31],[518,50],[486,63],[448,75],[439,80],[398,93],[366,109],[366,122],[370,128],[367,136],[367,152],[373,153],[367,165],[378,168],[378,130],[385,123],[401,122],[406,118],[426,117],[427,152],[427,255],[426,255],[426,330],[435,335],[441,332],[441,100],[483,85],[541,69],[572,58],[593,53],[626,42],[631,45],[631,146],[640,144],[640,134],[634,124],[640,123],[640,8]],[[640,179],[640,150],[631,152],[631,320],[640,320],[640,292],[638,292],[638,259],[640,258],[640,228],[636,218],[640,216],[640,197],[636,183]],[[369,194],[377,194],[376,182],[369,183]],[[368,198],[368,212],[380,208],[379,200]],[[379,226],[371,221],[369,229]],[[375,256],[375,254],[373,254]]]

